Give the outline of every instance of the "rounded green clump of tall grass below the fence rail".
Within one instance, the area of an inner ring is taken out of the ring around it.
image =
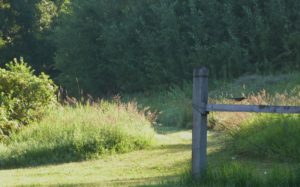
[[[259,115],[231,132],[229,148],[240,156],[300,161],[300,117],[297,115]]]

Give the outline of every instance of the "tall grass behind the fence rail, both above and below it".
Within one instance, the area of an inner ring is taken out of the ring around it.
[[[300,105],[300,74],[242,77],[235,84],[250,87],[247,99],[239,104]],[[247,86],[245,86],[247,85]],[[262,89],[263,88],[263,89]],[[245,91],[244,89],[244,91]],[[254,92],[262,89],[261,91]],[[233,91],[235,92],[235,91]],[[214,102],[222,102],[217,99]],[[257,159],[295,162],[300,160],[300,116],[276,114],[219,113],[219,124],[232,136],[228,149],[234,154]],[[240,116],[240,117],[237,117]],[[227,119],[227,123],[222,121]]]

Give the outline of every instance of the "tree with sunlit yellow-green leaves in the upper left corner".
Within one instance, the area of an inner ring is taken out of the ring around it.
[[[0,0],[0,64],[23,56],[38,71],[53,68],[49,40],[53,20],[66,0]]]

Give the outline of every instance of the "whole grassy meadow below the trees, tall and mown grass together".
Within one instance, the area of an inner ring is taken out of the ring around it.
[[[300,74],[210,83],[211,103],[300,105]],[[191,83],[57,105],[0,144],[2,186],[299,186],[299,115],[212,113],[190,176]],[[230,98],[244,96],[236,102]]]

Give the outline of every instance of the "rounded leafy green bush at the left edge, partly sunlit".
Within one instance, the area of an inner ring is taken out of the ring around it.
[[[33,73],[23,59],[0,68],[0,136],[41,119],[54,103],[53,82],[43,73]]]

